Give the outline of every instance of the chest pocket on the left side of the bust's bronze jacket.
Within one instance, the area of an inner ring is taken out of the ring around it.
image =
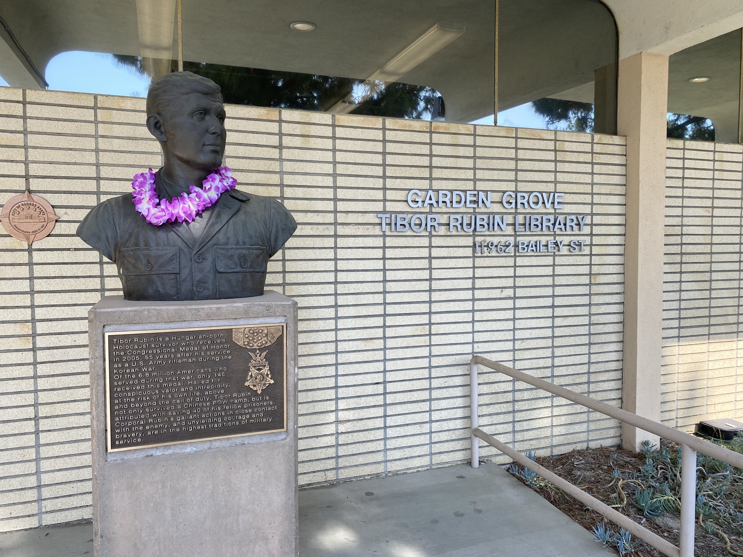
[[[127,300],[181,299],[181,267],[177,247],[126,247],[119,273]]]

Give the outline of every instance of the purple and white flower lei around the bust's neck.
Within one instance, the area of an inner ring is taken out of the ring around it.
[[[237,185],[237,180],[232,177],[232,170],[227,166],[220,166],[201,182],[200,188],[189,186],[189,195],[184,192],[172,201],[160,201],[155,193],[155,175],[157,172],[152,172],[152,169],[135,174],[132,198],[137,211],[149,224],[156,227],[166,222],[193,221],[196,215],[201,215],[204,209],[216,203],[222,192],[234,189]]]

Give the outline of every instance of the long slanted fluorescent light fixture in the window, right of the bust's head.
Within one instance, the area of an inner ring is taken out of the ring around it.
[[[358,105],[382,91],[392,82],[397,81],[417,65],[429,59],[435,53],[447,46],[450,42],[464,33],[464,27],[455,23],[438,22],[425,33],[411,42],[389,62],[371,74],[358,87],[354,87],[348,95],[343,97],[328,112],[348,114]]]

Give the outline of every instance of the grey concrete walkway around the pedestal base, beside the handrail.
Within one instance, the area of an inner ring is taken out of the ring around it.
[[[9,532],[0,557],[91,555],[92,537],[91,523]],[[593,535],[493,464],[303,489],[299,544],[301,557],[606,557]]]

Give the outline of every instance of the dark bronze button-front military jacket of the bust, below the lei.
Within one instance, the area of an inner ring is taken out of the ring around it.
[[[198,238],[185,223],[149,224],[130,194],[96,206],[77,235],[114,261],[127,300],[208,300],[262,295],[268,259],[294,230],[281,203],[233,189]]]

